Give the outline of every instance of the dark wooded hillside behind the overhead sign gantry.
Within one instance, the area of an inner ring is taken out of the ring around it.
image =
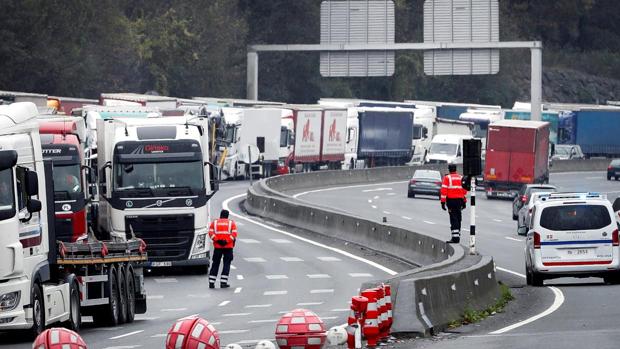
[[[0,89],[97,97],[100,92],[245,96],[246,46],[319,42],[320,0],[2,0]],[[422,41],[423,0],[395,0],[396,41]],[[542,40],[543,98],[620,99],[616,0],[500,0],[500,38]],[[259,96],[529,99],[529,51],[501,53],[494,76],[429,77],[421,53],[398,53],[386,78],[322,78],[316,53],[260,56]]]

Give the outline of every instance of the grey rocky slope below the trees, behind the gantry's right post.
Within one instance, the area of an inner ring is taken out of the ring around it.
[[[530,99],[529,71],[517,79],[519,100]],[[598,103],[620,100],[620,80],[590,75],[576,70],[545,68],[543,101],[557,103]]]

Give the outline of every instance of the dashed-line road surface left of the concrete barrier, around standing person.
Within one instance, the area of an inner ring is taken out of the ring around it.
[[[240,213],[238,204],[248,185],[224,183],[211,201],[212,213],[219,214],[231,197],[237,197],[230,200],[232,212]],[[315,311],[328,326],[339,325],[346,322],[348,302],[362,282],[404,270],[398,264],[370,265],[372,261],[354,259],[347,251],[338,253],[301,241],[286,235],[287,228],[254,223],[256,218],[235,219],[239,240],[231,288],[210,290],[206,275],[154,273],[146,278],[148,312],[136,316],[133,324],[113,328],[86,322],[81,334],[89,347],[162,348],[175,320],[194,314],[215,325],[223,345],[252,346],[258,340],[273,339],[282,314],[300,307]],[[23,338],[0,334],[0,348],[31,348],[31,342]]]

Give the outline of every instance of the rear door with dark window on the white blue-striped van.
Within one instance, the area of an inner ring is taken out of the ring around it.
[[[618,234],[612,216],[606,206],[585,202],[544,208],[539,225],[543,265],[612,264]]]

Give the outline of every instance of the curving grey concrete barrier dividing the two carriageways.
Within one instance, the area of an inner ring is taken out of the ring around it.
[[[419,266],[378,282],[389,283],[393,289],[394,332],[432,334],[459,319],[466,308],[481,310],[496,301],[499,288],[490,257],[470,256],[461,245],[304,202],[286,193],[407,180],[420,168],[446,170],[435,165],[274,177],[250,187],[245,208],[250,214],[348,241]],[[362,289],[372,284],[363,285]]]

